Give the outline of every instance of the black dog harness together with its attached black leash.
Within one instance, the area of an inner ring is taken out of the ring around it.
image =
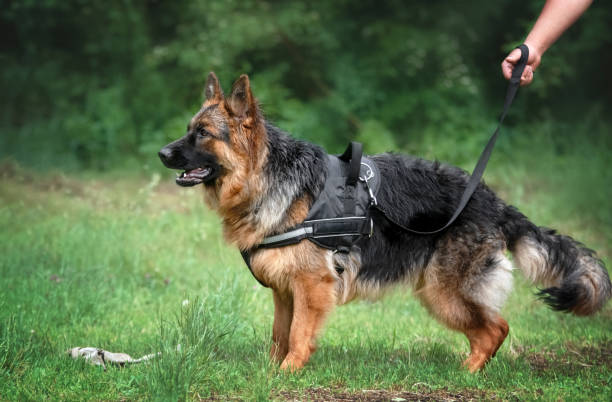
[[[518,49],[521,50],[521,58],[512,71],[504,108],[497,128],[482,151],[455,212],[444,226],[436,230],[423,232],[410,229],[390,219],[389,215],[376,202],[376,194],[381,184],[381,177],[376,164],[363,156],[363,147],[360,143],[351,142],[342,155],[327,155],[325,186],[310,208],[304,222],[285,233],[266,237],[255,249],[282,247],[308,239],[334,252],[349,252],[356,241],[364,236],[372,236],[374,229],[374,222],[370,216],[372,208],[378,209],[385,215],[386,219],[410,233],[432,235],[448,228],[459,217],[472,194],[476,191],[491,152],[493,152],[499,129],[520,85],[521,75],[529,59],[529,49],[525,44],[518,46]],[[242,251],[242,258],[253,277],[262,286],[268,287],[253,273],[251,251]]]

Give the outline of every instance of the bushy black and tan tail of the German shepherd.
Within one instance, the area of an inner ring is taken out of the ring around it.
[[[506,208],[502,230],[516,265],[545,286],[538,295],[554,310],[590,315],[610,299],[608,271],[593,250],[535,226],[514,207]]]

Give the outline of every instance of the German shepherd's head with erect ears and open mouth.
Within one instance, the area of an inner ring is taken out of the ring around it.
[[[246,179],[264,156],[265,128],[249,77],[241,75],[228,97],[214,73],[208,75],[206,100],[187,125],[187,133],[159,151],[170,169],[181,170],[180,186],[218,186],[228,177]]]

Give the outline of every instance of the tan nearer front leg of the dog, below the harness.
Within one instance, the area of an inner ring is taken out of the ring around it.
[[[326,268],[295,274],[289,351],[281,369],[294,371],[302,368],[314,352],[317,332],[336,302],[334,283]]]

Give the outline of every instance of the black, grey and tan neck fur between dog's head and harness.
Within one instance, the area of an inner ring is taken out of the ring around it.
[[[264,237],[301,223],[325,184],[325,151],[314,144],[296,140],[265,122],[266,160],[263,169],[251,177],[260,184],[239,220],[224,220],[228,240],[249,250]]]

